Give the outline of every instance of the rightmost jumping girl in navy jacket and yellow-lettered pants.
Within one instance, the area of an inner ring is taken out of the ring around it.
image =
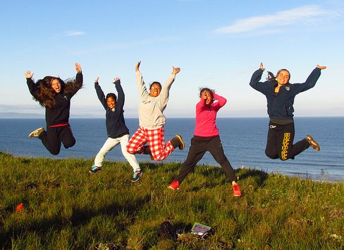
[[[326,66],[317,66],[308,76],[305,83],[289,83],[290,73],[286,69],[277,72],[276,77],[269,72],[268,81],[259,82],[265,70],[263,64],[260,69],[252,75],[250,86],[266,96],[268,114],[270,118],[269,133],[266,142],[265,154],[271,159],[288,160],[294,159],[295,155],[300,154],[311,146],[319,151],[319,144],[314,141],[312,136],[293,144],[295,127],[293,120],[293,104],[298,93],[313,88],[321,74],[321,69]]]

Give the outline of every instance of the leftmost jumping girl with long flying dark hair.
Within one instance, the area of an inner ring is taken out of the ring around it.
[[[64,81],[59,77],[46,76],[34,83],[33,73],[25,72],[27,87],[34,99],[45,107],[47,131],[36,129],[29,137],[39,138],[52,155],[58,155],[61,143],[65,148],[75,145],[75,138],[69,125],[70,99],[82,88],[82,70],[75,63],[75,80]]]

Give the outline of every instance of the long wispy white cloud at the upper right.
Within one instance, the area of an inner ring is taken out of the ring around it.
[[[239,19],[233,25],[218,28],[214,32],[234,34],[256,31],[257,29],[293,25],[297,23],[318,22],[317,18],[333,15],[331,11],[324,11],[317,5],[302,6],[292,8],[288,11],[278,11],[266,16],[252,16],[250,18]]]

